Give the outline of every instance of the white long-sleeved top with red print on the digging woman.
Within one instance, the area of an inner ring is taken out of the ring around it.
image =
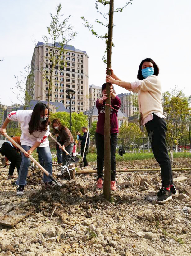
[[[49,125],[46,131],[35,131],[32,134],[29,133],[29,122],[33,110],[17,110],[12,111],[8,114],[8,119],[11,121],[18,121],[20,123],[20,128],[22,131],[20,137],[21,145],[27,145],[32,147],[35,142],[40,142],[39,147],[49,146],[48,135],[50,134]]]

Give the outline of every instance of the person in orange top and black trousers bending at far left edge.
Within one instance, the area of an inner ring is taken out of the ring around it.
[[[16,141],[20,146],[20,136],[12,137],[14,141]],[[18,149],[12,142],[9,140],[4,142],[1,146],[0,153],[5,156],[6,162],[11,162],[9,166],[8,179],[17,179],[17,176],[13,176],[15,167],[17,169],[17,173],[19,174],[20,164],[22,157],[18,153],[20,149]]]

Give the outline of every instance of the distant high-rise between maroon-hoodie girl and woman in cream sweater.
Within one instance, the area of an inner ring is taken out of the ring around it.
[[[121,93],[117,95],[121,99],[121,112],[126,116],[130,117],[137,114],[139,107],[137,104],[137,94]]]

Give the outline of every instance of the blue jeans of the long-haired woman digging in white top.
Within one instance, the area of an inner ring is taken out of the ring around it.
[[[27,145],[22,145],[22,147],[28,151],[31,147]],[[50,147],[37,147],[37,153],[40,155],[40,158],[44,161],[44,168],[52,175],[52,156],[50,152]],[[26,178],[28,174],[28,168],[30,166],[30,158],[25,157],[22,152],[22,161],[19,169],[19,176],[15,185],[26,185]],[[43,182],[52,181],[46,174],[43,176]]]

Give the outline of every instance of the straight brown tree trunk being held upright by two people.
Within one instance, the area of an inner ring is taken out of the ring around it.
[[[114,0],[110,0],[109,4],[109,27],[108,27],[108,41],[107,41],[107,75],[111,75],[111,54],[112,54],[112,37],[113,37],[113,5]],[[106,104],[111,105],[110,83],[106,85],[107,99]],[[110,110],[111,107],[105,105],[105,136],[104,136],[104,162],[105,174],[103,194],[105,198],[111,200],[111,148],[110,148]]]

